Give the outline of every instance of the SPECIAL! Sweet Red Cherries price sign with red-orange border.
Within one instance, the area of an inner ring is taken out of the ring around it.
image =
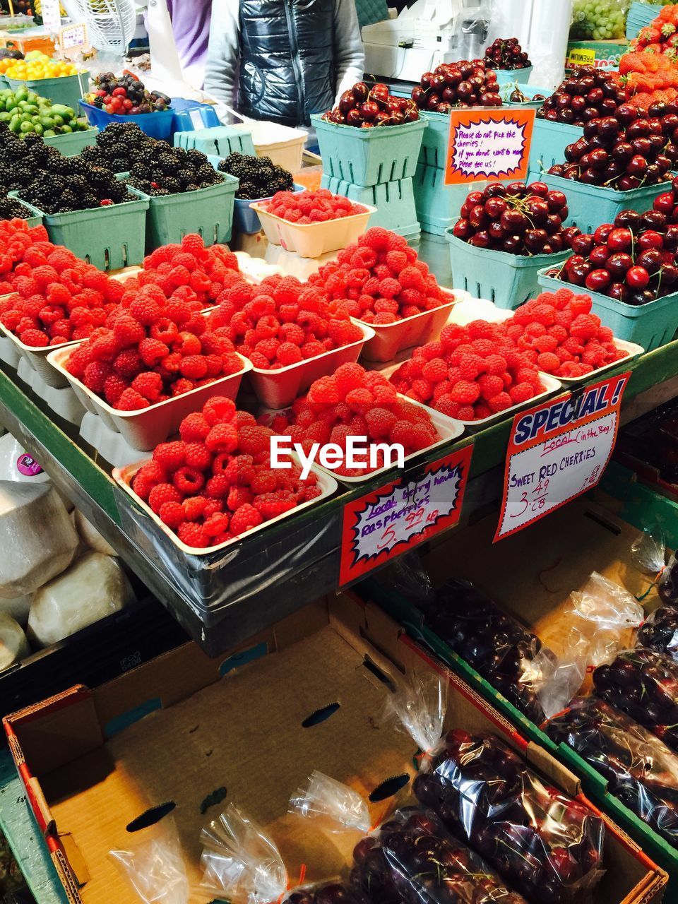
[[[516,414],[494,542],[598,484],[617,441],[629,376],[610,377]]]

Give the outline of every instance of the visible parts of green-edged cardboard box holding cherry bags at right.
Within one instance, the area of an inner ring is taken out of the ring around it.
[[[610,473],[617,470],[623,469],[618,466],[609,469],[604,485],[611,485]],[[618,490],[618,482],[614,486]],[[640,491],[649,494],[644,487],[636,485],[636,493]],[[565,636],[569,624],[564,613],[568,598],[572,590],[586,582],[592,571],[600,572],[626,587],[637,598],[643,598],[647,613],[660,602],[652,579],[637,570],[631,557],[631,544],[639,528],[650,526],[649,523],[634,526],[624,519],[623,515],[628,514],[631,490],[626,488],[621,494],[616,493],[616,498],[598,492],[597,498],[605,505],[594,502],[590,495],[581,497],[551,513],[546,520],[496,544],[493,544],[497,519],[494,511],[464,531],[434,538],[428,551],[422,554],[423,563],[434,586],[450,577],[470,580],[556,654],[567,653]],[[660,497],[655,499],[666,502]],[[645,518],[645,513],[639,514]],[[652,520],[652,516],[648,517],[649,522]],[[678,531],[678,523],[675,530]],[[667,899],[678,900],[678,851],[616,797],[608,794],[606,779],[574,750],[551,741],[540,727],[425,626],[419,609],[400,594],[381,586],[378,576],[366,582],[363,597],[385,607],[392,617],[407,626],[411,636],[418,638],[422,645],[464,677],[528,738],[575,771],[582,779],[584,791],[595,803],[669,872]],[[629,643],[631,641],[629,633]]]

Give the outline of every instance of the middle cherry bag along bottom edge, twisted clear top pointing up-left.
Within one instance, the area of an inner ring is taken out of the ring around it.
[[[363,798],[314,772],[290,800],[290,811],[320,818],[325,828],[367,833],[353,848],[351,885],[371,904],[526,904],[431,812],[399,807],[370,825]]]

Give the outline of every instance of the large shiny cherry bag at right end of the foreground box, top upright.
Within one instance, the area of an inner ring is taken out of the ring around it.
[[[562,904],[602,875],[604,825],[548,785],[493,735],[443,735],[440,687],[421,683],[389,706],[427,751],[414,793],[533,904]]]

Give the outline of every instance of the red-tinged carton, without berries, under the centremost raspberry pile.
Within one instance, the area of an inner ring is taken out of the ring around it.
[[[289,364],[287,367],[278,368],[276,371],[264,371],[259,367],[250,366],[248,379],[257,399],[271,409],[285,408],[305,392],[312,382],[320,377],[331,376],[341,364],[355,363],[363,351],[366,343],[372,341],[374,329],[372,326],[357,322],[363,330],[363,338],[340,348],[334,348],[331,352],[318,354],[315,358],[300,361],[297,364]]]

